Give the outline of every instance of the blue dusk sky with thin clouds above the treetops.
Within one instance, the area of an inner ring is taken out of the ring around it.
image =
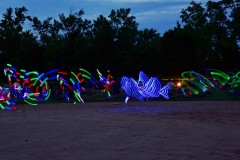
[[[0,0],[0,14],[9,7],[28,9],[29,16],[43,20],[47,17],[58,19],[60,13],[66,16],[70,11],[83,9],[84,19],[94,20],[100,14],[108,16],[112,9],[131,8],[131,15],[136,17],[139,29],[153,28],[161,35],[176,26],[180,12],[189,6],[191,0]],[[195,0],[204,6],[207,0]]]

